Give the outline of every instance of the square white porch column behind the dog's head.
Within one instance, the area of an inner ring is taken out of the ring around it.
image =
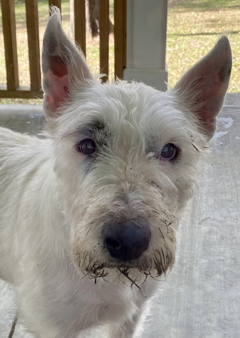
[[[127,64],[124,80],[167,89],[167,0],[127,0]]]

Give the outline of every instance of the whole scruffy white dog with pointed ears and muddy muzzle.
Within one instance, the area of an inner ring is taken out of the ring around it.
[[[0,276],[39,338],[106,325],[134,337],[175,260],[231,73],[222,37],[176,87],[101,84],[54,8],[43,43],[45,139],[0,128]]]

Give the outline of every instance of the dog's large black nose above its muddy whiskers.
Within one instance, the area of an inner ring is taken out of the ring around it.
[[[104,230],[109,254],[122,261],[137,259],[150,242],[151,231],[141,222],[111,223]]]

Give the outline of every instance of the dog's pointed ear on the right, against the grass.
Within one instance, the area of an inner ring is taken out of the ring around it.
[[[223,36],[174,87],[176,95],[197,117],[208,139],[212,138],[216,129],[216,117],[228,89],[231,68],[231,47],[228,38]]]

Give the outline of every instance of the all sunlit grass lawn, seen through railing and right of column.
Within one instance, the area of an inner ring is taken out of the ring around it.
[[[113,16],[110,1],[110,17]],[[48,1],[38,1],[39,38],[42,49],[43,34],[48,20]],[[16,28],[20,85],[28,86],[29,63],[27,49],[26,14],[23,1],[16,1]],[[6,84],[4,43],[0,13],[0,84]],[[69,32],[69,1],[62,0],[62,26]],[[181,75],[203,57],[216,43],[221,33],[227,33],[233,53],[233,68],[229,92],[240,92],[240,1],[239,0],[170,0],[168,5],[166,62],[168,84],[174,86]],[[87,41],[87,62],[99,71],[99,39]],[[110,35],[109,75],[113,76],[114,38]],[[0,99],[0,103],[41,103],[41,100]]]

